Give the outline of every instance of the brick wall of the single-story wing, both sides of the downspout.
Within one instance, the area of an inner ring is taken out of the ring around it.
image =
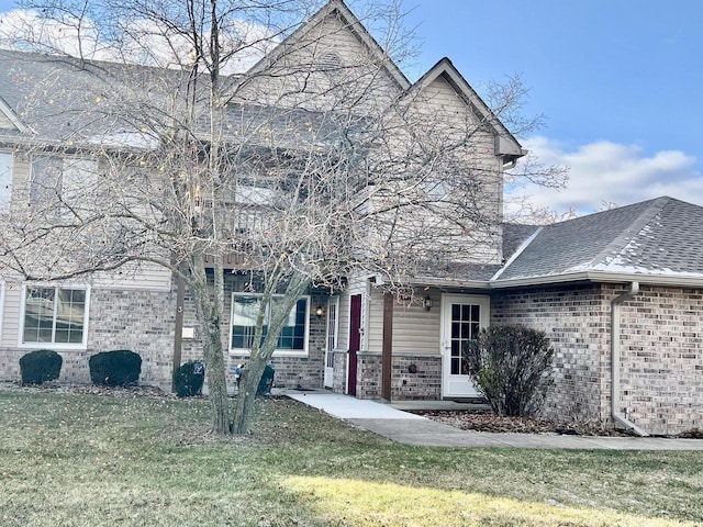
[[[544,414],[611,422],[611,301],[623,285],[587,284],[501,292],[491,324],[544,330],[555,380]],[[622,307],[620,412],[649,434],[703,425],[703,295],[643,287]]]

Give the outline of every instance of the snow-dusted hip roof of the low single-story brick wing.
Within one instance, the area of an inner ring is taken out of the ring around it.
[[[701,240],[703,208],[662,197],[540,227],[492,281],[701,280]]]

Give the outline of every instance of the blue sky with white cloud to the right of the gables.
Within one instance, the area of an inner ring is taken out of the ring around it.
[[[354,5],[354,1],[349,0]],[[0,0],[0,12],[13,2]],[[404,0],[421,54],[415,80],[448,56],[479,93],[520,75],[523,145],[570,167],[560,191],[526,187],[535,208],[582,214],[671,195],[703,205],[703,1]]]

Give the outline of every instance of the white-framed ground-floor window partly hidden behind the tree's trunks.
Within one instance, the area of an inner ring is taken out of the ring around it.
[[[275,295],[272,303],[281,295]],[[230,350],[248,352],[254,346],[256,318],[261,305],[261,295],[255,293],[233,293],[230,330]],[[266,336],[270,319],[270,309],[266,310],[263,334]],[[301,296],[291,312],[278,337],[276,352],[279,355],[306,355],[310,329],[310,296]]]

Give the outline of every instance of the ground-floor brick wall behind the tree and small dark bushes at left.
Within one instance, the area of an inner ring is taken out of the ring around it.
[[[232,291],[242,282],[226,280],[223,346],[228,349]],[[88,347],[85,350],[57,350],[64,359],[58,382],[90,383],[88,359],[100,351],[130,349],[142,357],[140,383],[171,389],[174,336],[176,329],[176,288],[171,291],[99,290],[92,289],[89,305]],[[324,373],[325,318],[314,309],[326,296],[314,293],[310,302],[309,352],[306,356],[274,356],[275,385],[284,388],[322,388]],[[194,330],[194,338],[185,338],[181,363],[202,359],[196,310],[189,294],[183,305],[183,326]],[[52,349],[51,345],[45,346]],[[0,380],[19,382],[20,357],[31,349],[0,348]],[[230,366],[246,363],[247,357],[228,354]],[[227,369],[230,386],[234,386],[234,370]],[[207,388],[205,388],[207,390]]]

